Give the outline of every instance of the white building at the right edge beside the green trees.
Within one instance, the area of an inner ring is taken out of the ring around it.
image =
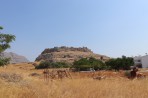
[[[142,68],[148,68],[148,55],[134,57],[134,63],[136,66],[141,66]]]

